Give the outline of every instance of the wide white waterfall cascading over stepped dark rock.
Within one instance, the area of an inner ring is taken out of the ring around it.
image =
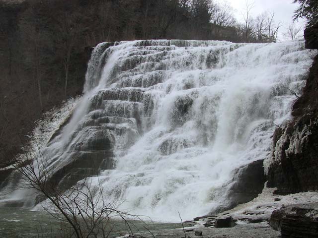
[[[232,171],[269,155],[311,64],[304,43],[102,43],[76,112],[43,153],[64,183],[102,181],[120,209],[155,220],[218,207]],[[62,182],[61,182],[62,181]]]

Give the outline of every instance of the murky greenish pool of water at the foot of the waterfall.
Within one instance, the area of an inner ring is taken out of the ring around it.
[[[154,223],[150,221],[130,220],[133,232],[156,231],[181,228],[177,223]],[[112,220],[113,232],[110,237],[129,234],[123,221]],[[27,208],[0,207],[0,238],[63,238],[66,232],[65,223],[53,218],[45,211],[31,211]]]

